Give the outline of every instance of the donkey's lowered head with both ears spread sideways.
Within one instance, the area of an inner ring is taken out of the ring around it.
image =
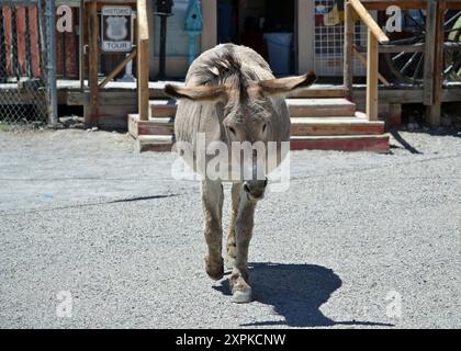
[[[315,80],[313,71],[297,77],[258,80],[251,73],[235,69],[226,71],[215,86],[181,88],[167,84],[165,91],[176,99],[216,105],[217,116],[222,121],[222,139],[232,147],[247,145],[252,148],[249,160],[245,161],[241,155],[238,159],[244,189],[249,197],[258,200],[263,196],[267,185],[267,145],[269,141],[280,140],[281,118],[289,121],[289,116],[280,116],[283,112],[277,111],[280,106],[271,98],[284,97],[296,89],[311,86]],[[260,152],[260,146],[266,147],[263,152]],[[250,170],[246,171],[248,169]]]

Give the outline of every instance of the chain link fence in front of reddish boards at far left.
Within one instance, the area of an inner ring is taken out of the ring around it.
[[[0,123],[47,122],[46,0],[0,0]]]

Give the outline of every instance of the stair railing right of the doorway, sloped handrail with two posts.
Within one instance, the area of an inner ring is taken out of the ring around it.
[[[360,0],[348,0],[345,4],[345,60],[344,79],[349,97],[353,86],[353,12],[359,15],[368,29],[367,45],[367,116],[370,121],[378,120],[379,93],[379,44],[390,42]]]

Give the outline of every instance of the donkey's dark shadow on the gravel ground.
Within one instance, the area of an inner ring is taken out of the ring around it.
[[[335,325],[393,327],[371,321],[334,321],[319,309],[342,282],[327,268],[315,264],[250,263],[254,299],[273,307],[284,320],[244,324],[245,327],[329,327]],[[228,280],[215,290],[229,295]]]

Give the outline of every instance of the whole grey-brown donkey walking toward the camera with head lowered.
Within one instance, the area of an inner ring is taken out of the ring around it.
[[[179,100],[175,123],[177,148],[202,176],[209,248],[205,269],[213,280],[224,275],[222,183],[233,183],[227,262],[233,265],[229,283],[236,303],[251,301],[247,262],[255,207],[265,195],[266,176],[280,165],[286,154],[283,150],[289,149],[282,147],[290,141],[284,97],[315,79],[314,72],[276,79],[259,54],[248,47],[224,44],[203,53],[191,65],[185,88],[170,84],[165,88],[167,94]],[[217,155],[214,148],[227,154],[227,162],[220,165],[217,177],[215,172],[212,177],[207,167]]]

